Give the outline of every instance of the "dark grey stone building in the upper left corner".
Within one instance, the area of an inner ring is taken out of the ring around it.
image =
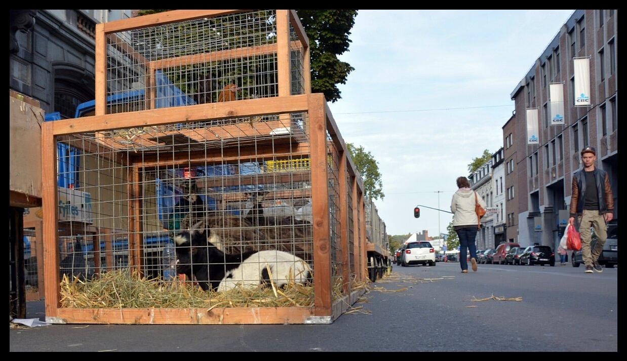
[[[11,10],[9,88],[73,118],[95,98],[95,27],[131,10]]]

